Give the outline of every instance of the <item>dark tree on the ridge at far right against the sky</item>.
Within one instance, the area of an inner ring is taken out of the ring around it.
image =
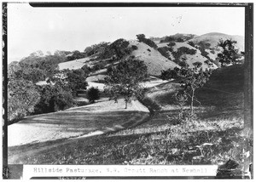
[[[237,64],[241,54],[238,54],[238,48],[235,47],[236,41],[232,39],[220,39],[218,47],[222,48],[222,52],[218,54],[218,61],[221,65]]]

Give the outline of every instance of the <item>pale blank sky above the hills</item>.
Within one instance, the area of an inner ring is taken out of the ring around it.
[[[42,50],[79,50],[118,38],[221,32],[244,36],[244,8],[32,8],[8,4],[9,61]]]

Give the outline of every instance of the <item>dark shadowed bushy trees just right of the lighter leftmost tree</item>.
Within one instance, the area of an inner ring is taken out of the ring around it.
[[[38,86],[40,101],[35,105],[34,114],[65,110],[75,104],[71,91],[65,90],[58,82],[55,85]]]

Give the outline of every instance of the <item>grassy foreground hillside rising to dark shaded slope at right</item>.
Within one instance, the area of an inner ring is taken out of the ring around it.
[[[242,131],[243,65],[213,72],[200,88],[196,105],[198,119],[177,123],[177,105],[172,94],[177,83],[148,89],[151,103],[159,105],[148,122],[134,128],[86,139],[74,139],[50,150],[20,156],[24,164],[217,164],[242,163],[242,149],[252,145]],[[150,105],[147,105],[150,106]]]

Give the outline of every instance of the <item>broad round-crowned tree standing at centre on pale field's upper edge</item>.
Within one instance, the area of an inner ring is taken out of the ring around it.
[[[115,101],[119,96],[125,98],[125,108],[131,97],[142,97],[143,88],[139,82],[148,77],[147,66],[142,60],[122,60],[118,65],[108,68],[105,78],[105,92]]]

